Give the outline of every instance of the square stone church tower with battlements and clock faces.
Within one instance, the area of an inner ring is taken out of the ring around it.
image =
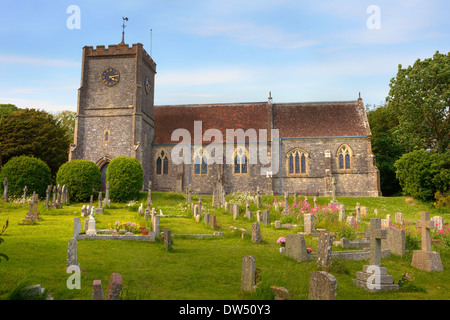
[[[156,64],[140,43],[83,48],[74,143],[69,161],[92,160],[102,172],[119,156],[134,157],[150,179],[155,134]]]

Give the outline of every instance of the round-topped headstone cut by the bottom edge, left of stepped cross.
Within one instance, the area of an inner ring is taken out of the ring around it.
[[[313,271],[309,278],[309,300],[336,300],[337,280],[325,271]]]

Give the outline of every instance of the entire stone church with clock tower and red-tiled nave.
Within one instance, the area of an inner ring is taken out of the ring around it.
[[[264,102],[154,106],[155,74],[140,43],[83,48],[69,161],[92,160],[104,177],[112,159],[134,157],[143,188],[151,181],[156,191],[381,195],[361,97],[275,103],[269,94]],[[176,134],[180,129],[187,139]],[[244,140],[228,132],[244,132]],[[266,146],[256,158],[255,146]]]

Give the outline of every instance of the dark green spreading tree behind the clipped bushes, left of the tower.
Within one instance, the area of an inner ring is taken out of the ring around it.
[[[53,177],[68,160],[67,132],[45,111],[20,109],[0,118],[0,143],[3,163],[15,156],[34,156],[47,163]]]

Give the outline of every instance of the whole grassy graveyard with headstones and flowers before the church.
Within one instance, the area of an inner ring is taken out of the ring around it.
[[[54,300],[103,299],[114,281],[121,300],[450,298],[450,215],[411,198],[149,199],[141,192],[127,203],[0,201],[0,225],[8,219],[0,299],[25,299],[21,290],[37,284]],[[69,289],[71,265],[79,266],[79,289]],[[380,290],[366,288],[374,266]],[[318,292],[330,283],[331,295]]]

